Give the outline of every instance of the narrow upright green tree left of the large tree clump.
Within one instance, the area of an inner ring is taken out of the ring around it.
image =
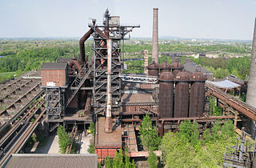
[[[142,126],[139,126],[140,139],[145,150],[158,150],[161,138],[158,137],[158,131],[152,125],[150,116],[147,114],[142,120]]]

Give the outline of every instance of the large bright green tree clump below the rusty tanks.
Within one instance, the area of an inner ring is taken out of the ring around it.
[[[184,121],[178,132],[168,132],[160,149],[166,167],[222,167],[226,146],[235,144],[232,121],[215,122],[199,138],[198,123]]]

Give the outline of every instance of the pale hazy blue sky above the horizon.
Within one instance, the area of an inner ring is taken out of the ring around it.
[[[130,34],[151,38],[158,7],[159,37],[251,40],[255,0],[0,0],[0,38],[82,37],[91,18],[102,24],[109,8]]]

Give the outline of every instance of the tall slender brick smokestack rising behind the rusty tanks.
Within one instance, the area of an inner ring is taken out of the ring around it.
[[[152,60],[158,63],[158,8],[153,10]]]

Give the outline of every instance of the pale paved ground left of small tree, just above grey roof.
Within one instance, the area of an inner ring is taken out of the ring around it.
[[[50,135],[44,146],[38,146],[34,154],[60,154],[58,152],[58,135]]]

